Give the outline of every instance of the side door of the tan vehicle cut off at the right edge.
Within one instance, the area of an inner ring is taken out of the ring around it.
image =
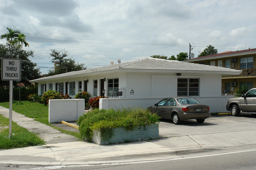
[[[250,90],[241,99],[241,110],[243,112],[256,112],[256,89]]]

